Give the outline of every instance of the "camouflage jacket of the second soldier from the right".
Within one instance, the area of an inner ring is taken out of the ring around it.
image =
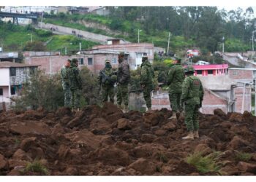
[[[172,66],[168,72],[167,84],[169,85],[169,92],[181,93],[182,82],[184,81],[184,68],[180,64]]]

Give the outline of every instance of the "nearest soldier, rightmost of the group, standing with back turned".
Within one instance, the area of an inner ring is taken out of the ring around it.
[[[185,123],[189,135],[182,139],[199,138],[198,109],[202,106],[203,85],[197,76],[194,76],[195,70],[192,66],[185,68],[186,78],[182,84],[181,104],[185,103]]]

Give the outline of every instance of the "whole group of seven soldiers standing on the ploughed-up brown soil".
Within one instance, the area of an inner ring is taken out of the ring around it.
[[[169,100],[172,108],[172,116],[169,119],[177,119],[184,116],[187,124],[188,135],[183,139],[199,138],[198,110],[203,101],[203,85],[197,76],[194,76],[194,68],[181,66],[181,59],[176,59],[176,64],[170,68],[167,76],[169,86]],[[82,81],[78,70],[78,60],[67,60],[66,65],[61,68],[62,86],[64,89],[64,104],[71,107],[72,111],[79,111],[80,90]],[[128,112],[130,80],[129,64],[124,60],[124,52],[118,55],[118,69],[114,71],[110,60],[105,60],[105,68],[99,72],[99,86],[102,90],[102,101],[114,103],[115,91],[117,87],[117,104],[124,113]],[[140,86],[143,97],[146,101],[146,111],[151,110],[151,92],[154,90],[154,69],[148,58],[142,58],[140,66]]]

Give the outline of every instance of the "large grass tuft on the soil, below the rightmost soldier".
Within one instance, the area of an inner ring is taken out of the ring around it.
[[[220,152],[208,154],[206,157],[202,153],[193,153],[186,158],[189,165],[193,165],[200,173],[217,172],[220,173],[220,166],[217,164],[217,159]]]

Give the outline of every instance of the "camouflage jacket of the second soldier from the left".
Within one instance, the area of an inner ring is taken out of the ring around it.
[[[70,69],[67,73],[69,77],[70,90],[82,89],[82,79],[80,77],[78,67],[71,63]]]

